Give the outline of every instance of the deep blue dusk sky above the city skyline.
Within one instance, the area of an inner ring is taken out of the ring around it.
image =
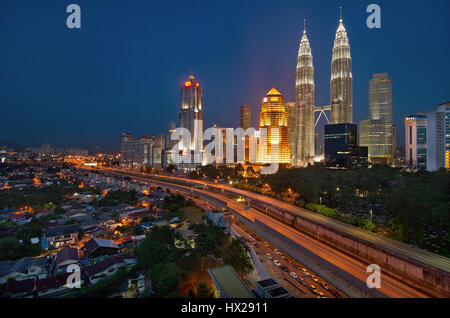
[[[81,7],[82,28],[66,27]],[[366,7],[381,7],[368,29]],[[0,140],[22,145],[118,148],[120,135],[165,133],[178,121],[192,68],[205,125],[239,125],[275,87],[294,100],[298,45],[307,19],[316,105],[329,104],[339,5],[350,39],[354,119],[368,117],[373,73],[393,79],[398,144],[403,118],[450,100],[448,0],[3,0],[0,11]]]

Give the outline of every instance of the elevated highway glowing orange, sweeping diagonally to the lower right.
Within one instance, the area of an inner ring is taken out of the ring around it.
[[[227,185],[165,175],[108,171],[141,180],[150,179],[160,185],[177,185],[184,191],[202,193],[229,205],[234,204],[233,210],[240,211],[249,220],[262,222],[302,245],[309,244],[315,253],[362,281],[368,275],[365,272],[367,264],[377,264],[385,274],[384,282],[388,283],[383,293],[389,297],[450,297],[450,260],[446,257]],[[236,206],[237,196],[249,201],[249,211]]]

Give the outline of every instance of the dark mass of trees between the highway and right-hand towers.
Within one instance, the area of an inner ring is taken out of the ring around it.
[[[263,176],[254,183],[234,186],[287,202],[293,202],[287,195],[288,189],[292,189],[298,194],[295,204],[300,207],[368,231],[386,231],[389,225],[393,231],[390,236],[397,240],[450,255],[450,173],[445,170],[403,172],[374,166],[336,171],[281,167],[276,174]],[[367,220],[369,210],[375,216],[383,214],[389,221],[379,224]]]

